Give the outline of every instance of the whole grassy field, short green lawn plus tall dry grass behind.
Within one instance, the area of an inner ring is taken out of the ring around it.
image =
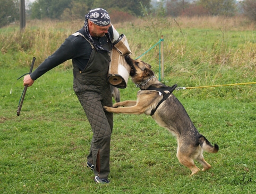
[[[177,19],[177,26],[173,20],[158,20],[158,31],[150,19],[116,27],[126,34],[134,58],[164,35],[165,84],[256,81],[256,33],[251,24],[214,18]],[[16,116],[23,90],[22,79],[16,78],[29,71],[32,57],[37,67],[78,29],[74,23],[48,21],[28,23],[25,34],[15,26],[0,29],[0,193],[256,192],[255,84],[174,91],[199,132],[219,145],[218,153],[204,153],[212,168],[192,177],[178,162],[175,137],[167,130],[150,116],[116,114],[111,182],[94,183],[86,167],[92,132],[72,89],[70,61],[28,88]],[[158,76],[158,48],[141,59]],[[137,91],[129,80],[121,100],[136,99]]]

